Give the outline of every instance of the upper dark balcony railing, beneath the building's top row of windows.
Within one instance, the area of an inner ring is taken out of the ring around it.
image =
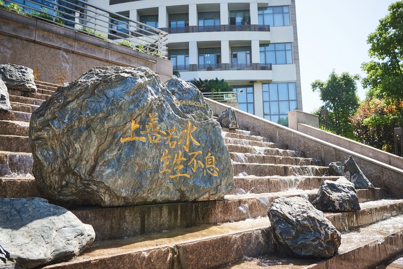
[[[200,33],[200,32],[230,32],[230,31],[251,31],[270,32],[269,25],[209,25],[209,26],[184,26],[160,28],[169,33]]]

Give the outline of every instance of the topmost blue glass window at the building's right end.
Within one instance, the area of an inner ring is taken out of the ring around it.
[[[258,9],[259,25],[290,26],[290,9],[288,6]]]

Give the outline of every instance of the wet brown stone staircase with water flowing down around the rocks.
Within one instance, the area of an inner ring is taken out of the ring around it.
[[[13,111],[0,112],[0,197],[39,196],[29,120],[57,85],[36,83],[38,93],[10,92]],[[337,177],[328,175],[320,159],[258,133],[223,129],[222,135],[237,175],[223,200],[70,208],[94,227],[96,241],[78,257],[44,268],[371,268],[403,251],[403,200],[382,199],[380,189],[366,189],[357,190],[360,211],[325,213],[342,232],[338,255],[276,256],[270,203],[277,196],[313,200],[323,180]]]

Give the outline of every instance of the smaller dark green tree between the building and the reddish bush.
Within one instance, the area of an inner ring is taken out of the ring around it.
[[[315,80],[312,90],[318,91],[324,105],[320,109],[327,109],[328,130],[347,138],[354,139],[353,126],[350,115],[354,114],[359,106],[356,81],[359,75],[350,75],[343,72],[338,76],[334,70],[326,81]]]

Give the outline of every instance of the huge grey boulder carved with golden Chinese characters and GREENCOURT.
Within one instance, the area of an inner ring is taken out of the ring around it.
[[[63,84],[31,117],[33,174],[56,204],[221,199],[234,170],[195,86],[147,68],[99,67]]]

